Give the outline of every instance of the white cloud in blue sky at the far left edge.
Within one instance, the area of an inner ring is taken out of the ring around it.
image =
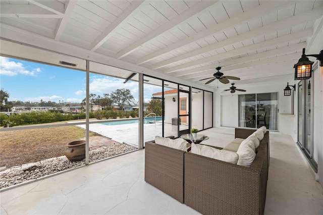
[[[40,68],[27,70],[20,62],[10,61],[9,58],[0,57],[0,74],[7,76],[15,76],[18,74],[36,76],[41,72]]]

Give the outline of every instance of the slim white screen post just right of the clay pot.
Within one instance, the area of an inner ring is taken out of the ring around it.
[[[90,61],[86,60],[86,120],[85,120],[85,165],[89,164],[89,94],[90,94]]]

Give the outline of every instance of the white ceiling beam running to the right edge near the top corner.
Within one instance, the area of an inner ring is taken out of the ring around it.
[[[275,31],[290,27],[292,25],[291,23],[300,24],[300,23],[305,23],[305,22],[311,21],[311,20],[315,20],[315,19],[318,19],[322,16],[321,13],[322,13],[322,8],[316,8],[314,10],[309,10],[309,11],[306,11],[302,14],[292,16],[292,17],[286,18],[284,20],[271,23],[269,25],[265,25],[263,27],[255,29],[255,30],[248,31],[246,33],[231,37],[229,39],[226,39],[226,40],[223,40],[223,41],[220,41],[217,43],[213,43],[211,45],[207,45],[202,48],[195,49],[195,50],[187,52],[183,55],[179,55],[174,58],[171,58],[169,60],[159,62],[157,64],[152,65],[151,69],[158,69],[161,67],[165,67],[167,65],[174,64],[176,62],[179,62],[179,61],[182,61],[182,60],[185,60],[185,59],[197,56],[197,55],[201,55],[202,53],[209,52],[209,51],[212,51],[212,50],[215,50],[215,49],[218,49],[218,48],[230,45],[230,44],[234,44],[236,42],[243,41],[245,39],[252,38],[254,36],[258,36],[260,34],[265,34],[267,32],[275,32]],[[171,46],[173,47],[173,45],[171,45]]]

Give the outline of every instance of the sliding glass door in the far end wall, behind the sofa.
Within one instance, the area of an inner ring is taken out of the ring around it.
[[[239,95],[239,127],[278,130],[278,93]]]

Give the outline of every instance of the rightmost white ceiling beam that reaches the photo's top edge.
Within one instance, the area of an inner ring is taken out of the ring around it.
[[[189,45],[189,44],[194,43],[198,40],[201,40],[207,36],[215,34],[217,32],[221,32],[221,31],[225,30],[226,28],[228,28],[229,26],[238,25],[238,24],[245,22],[249,19],[261,16],[265,13],[282,8],[286,4],[292,4],[292,3],[294,3],[294,1],[291,1],[291,2],[269,1],[268,3],[261,4],[260,6],[257,6],[256,8],[253,8],[247,12],[244,12],[244,13],[237,14],[235,17],[232,17],[224,22],[214,25],[213,27],[211,27],[209,29],[198,32],[197,34],[190,36],[188,38],[185,38],[175,44],[172,44],[168,47],[162,48],[158,51],[154,51],[150,55],[147,55],[147,56],[139,59],[137,61],[137,64],[140,65],[145,62],[151,61],[151,60],[153,60],[161,55],[164,55],[165,53],[168,53],[174,49],[183,47],[185,45]]]

